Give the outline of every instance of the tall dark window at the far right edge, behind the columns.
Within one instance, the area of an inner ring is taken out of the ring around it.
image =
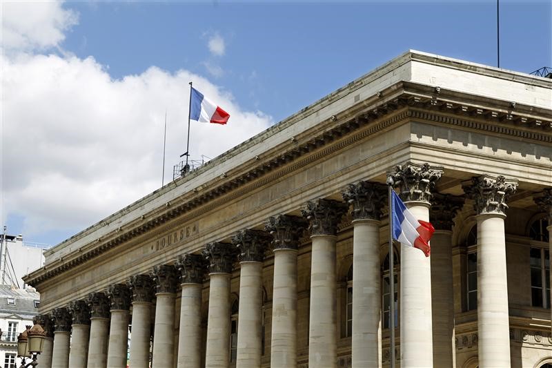
[[[531,248],[531,305],[550,308],[550,252],[548,249]]]

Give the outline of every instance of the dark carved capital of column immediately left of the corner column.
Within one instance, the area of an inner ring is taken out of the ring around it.
[[[342,189],[345,202],[352,205],[353,220],[380,220],[387,202],[387,186],[373,182],[348,184]]]

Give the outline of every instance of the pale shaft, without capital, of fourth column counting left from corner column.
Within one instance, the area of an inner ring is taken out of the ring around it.
[[[274,250],[270,367],[297,367],[297,250]]]

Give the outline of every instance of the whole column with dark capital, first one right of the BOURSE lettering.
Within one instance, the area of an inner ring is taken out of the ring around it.
[[[230,273],[235,259],[232,244],[212,242],[203,255],[209,267],[209,311],[205,367],[230,365]]]

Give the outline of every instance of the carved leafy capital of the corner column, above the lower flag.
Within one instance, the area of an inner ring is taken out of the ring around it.
[[[395,166],[388,176],[393,178],[393,186],[399,188],[399,196],[404,202],[429,203],[435,182],[440,180],[442,174],[443,168],[440,166],[408,162]]]

